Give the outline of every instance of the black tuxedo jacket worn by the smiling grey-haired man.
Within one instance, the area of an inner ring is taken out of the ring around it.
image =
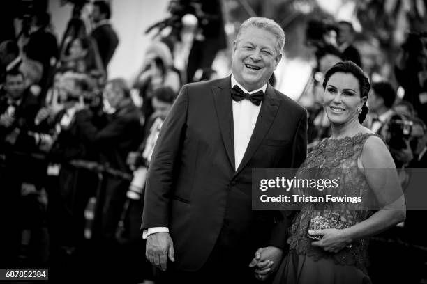
[[[142,229],[168,227],[175,264],[197,271],[213,246],[283,248],[290,220],[251,209],[253,168],[298,168],[306,157],[306,110],[267,86],[248,148],[234,170],[230,77],[183,86],[165,119],[147,177]]]

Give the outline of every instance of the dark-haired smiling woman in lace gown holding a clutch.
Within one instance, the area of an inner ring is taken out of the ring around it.
[[[362,204],[334,203],[319,208],[305,203],[292,222],[287,239],[290,251],[274,284],[370,283],[366,272],[368,238],[405,219],[405,202],[389,150],[382,139],[361,125],[368,112],[370,84],[366,74],[351,61],[340,62],[327,71],[323,87],[332,135],[313,148],[297,175],[313,168],[329,169],[323,170],[322,178],[340,175],[340,196],[361,196]],[[364,200],[384,206],[373,213]],[[313,216],[331,213],[352,226],[308,231]],[[314,241],[308,234],[321,239]],[[255,274],[267,278],[274,266],[260,263],[268,265],[258,265]]]

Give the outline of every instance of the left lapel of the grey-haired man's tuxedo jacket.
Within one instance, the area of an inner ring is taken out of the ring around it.
[[[213,100],[215,101],[218,125],[228,159],[234,170],[234,127],[233,127],[233,107],[231,98],[231,77],[224,78],[212,87]]]

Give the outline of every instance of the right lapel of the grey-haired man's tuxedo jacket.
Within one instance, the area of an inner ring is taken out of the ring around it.
[[[236,173],[234,173],[234,176],[238,175],[246,164],[248,164],[248,161],[253,157],[262,140],[264,140],[264,137],[267,135],[267,132],[269,132],[271,123],[273,123],[280,105],[280,100],[278,100],[276,96],[274,88],[268,84],[264,101],[261,104],[260,114],[255,123],[252,136],[250,136],[248,148],[246,148],[245,155]]]

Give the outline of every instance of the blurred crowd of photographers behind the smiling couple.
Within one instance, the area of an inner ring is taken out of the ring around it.
[[[397,168],[427,168],[426,0],[0,7],[1,268],[48,267],[61,283],[155,281],[140,232],[153,146],[183,84],[230,74],[232,41],[248,17],[285,30],[270,83],[308,110],[309,149],[329,136],[323,74],[351,60],[372,84],[366,127],[382,136]],[[135,26],[143,29],[129,37]],[[373,283],[427,283],[426,218],[407,212],[404,224],[372,240]]]

